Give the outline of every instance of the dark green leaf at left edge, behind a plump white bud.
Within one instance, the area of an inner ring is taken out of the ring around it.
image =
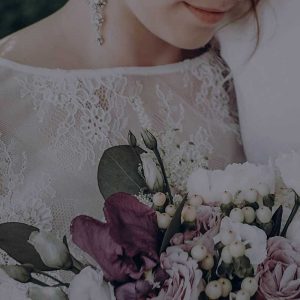
[[[0,248],[20,264],[31,264],[40,271],[51,271],[35,248],[27,241],[38,228],[24,223],[0,224]]]

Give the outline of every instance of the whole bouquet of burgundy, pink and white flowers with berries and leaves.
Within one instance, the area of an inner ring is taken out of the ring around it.
[[[71,224],[72,241],[94,265],[77,260],[66,238],[5,223],[0,247],[19,264],[1,266],[2,276],[36,284],[32,300],[300,299],[300,155],[275,166],[200,168],[181,194],[168,182],[155,137],[144,131],[142,138],[146,150],[130,132],[129,145],[101,158],[105,220],[78,216]],[[279,178],[294,195],[286,222]],[[75,275],[69,284],[54,270]]]

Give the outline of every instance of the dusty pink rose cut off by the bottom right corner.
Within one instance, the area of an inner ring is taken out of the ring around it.
[[[257,299],[300,299],[300,245],[274,237],[267,250],[267,259],[258,267]]]

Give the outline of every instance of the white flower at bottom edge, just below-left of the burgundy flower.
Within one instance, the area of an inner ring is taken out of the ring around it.
[[[86,267],[74,277],[69,287],[70,300],[113,300],[113,288],[103,280],[103,273]]]

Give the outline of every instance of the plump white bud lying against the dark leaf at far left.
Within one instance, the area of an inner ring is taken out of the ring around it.
[[[34,231],[28,239],[39,253],[43,263],[53,269],[69,269],[72,258],[67,246],[49,232]]]

